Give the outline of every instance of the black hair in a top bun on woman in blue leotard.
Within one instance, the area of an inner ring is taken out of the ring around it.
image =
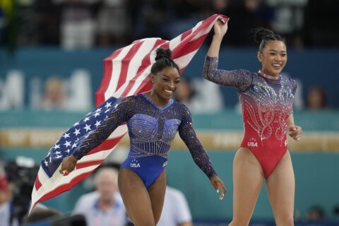
[[[175,64],[175,62],[171,58],[172,57],[171,49],[158,48],[155,52],[157,56],[155,57],[155,63],[150,69],[150,73],[156,75],[159,71],[162,71],[162,69],[165,69],[167,66],[176,68],[180,73],[179,66]]]

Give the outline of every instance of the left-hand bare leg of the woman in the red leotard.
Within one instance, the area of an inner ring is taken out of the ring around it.
[[[264,179],[263,169],[253,153],[239,148],[233,162],[233,219],[230,225],[249,225]]]

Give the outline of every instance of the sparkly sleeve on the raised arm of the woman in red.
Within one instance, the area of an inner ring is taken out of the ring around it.
[[[239,90],[246,90],[253,81],[250,71],[226,71],[218,69],[218,57],[206,57],[203,65],[203,78],[220,85],[235,86]]]

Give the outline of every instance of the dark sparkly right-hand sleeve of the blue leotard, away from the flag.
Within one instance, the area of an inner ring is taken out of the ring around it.
[[[179,136],[182,138],[187,148],[189,148],[189,152],[191,153],[194,162],[196,162],[196,165],[203,170],[209,179],[215,176],[216,173],[210,162],[210,158],[203,148],[203,145],[201,145],[196,137],[196,133],[192,127],[191,113],[187,107],[184,108],[182,123],[179,125],[178,131]]]

